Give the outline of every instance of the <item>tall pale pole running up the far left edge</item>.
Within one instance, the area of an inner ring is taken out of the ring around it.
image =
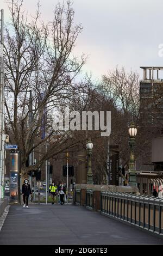
[[[0,67],[0,200],[4,198],[4,11],[1,10],[1,67]]]

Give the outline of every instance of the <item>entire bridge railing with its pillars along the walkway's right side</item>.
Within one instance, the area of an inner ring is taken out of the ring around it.
[[[73,203],[163,236],[163,199],[139,195],[136,187],[79,185]]]

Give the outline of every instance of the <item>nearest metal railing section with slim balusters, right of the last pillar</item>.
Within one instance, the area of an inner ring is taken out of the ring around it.
[[[101,213],[163,235],[163,199],[130,193],[101,193]]]

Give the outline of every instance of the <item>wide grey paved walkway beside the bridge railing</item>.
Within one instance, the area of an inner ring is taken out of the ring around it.
[[[163,239],[80,206],[11,205],[0,245],[163,245]]]

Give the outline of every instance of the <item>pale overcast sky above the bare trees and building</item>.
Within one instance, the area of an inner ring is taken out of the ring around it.
[[[62,1],[61,1],[62,2]],[[40,0],[43,21],[53,19],[58,0]],[[37,0],[24,0],[24,8],[34,14]],[[4,0],[5,21],[9,11]],[[82,23],[74,53],[89,56],[83,72],[100,79],[117,65],[139,72],[140,66],[163,66],[159,45],[163,44],[162,0],[73,0],[74,21]]]

